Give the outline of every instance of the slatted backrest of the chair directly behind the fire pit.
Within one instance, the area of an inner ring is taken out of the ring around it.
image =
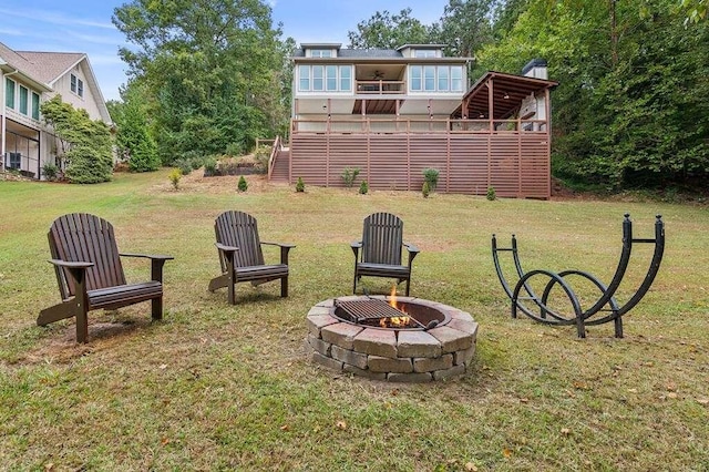
[[[401,265],[403,222],[390,213],[373,213],[364,218],[362,263]]]

